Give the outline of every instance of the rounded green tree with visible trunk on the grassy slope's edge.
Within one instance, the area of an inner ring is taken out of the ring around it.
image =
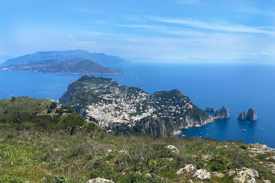
[[[77,127],[83,126],[85,123],[85,118],[83,118],[80,114],[72,113],[68,114],[63,118],[62,126],[66,129],[70,129],[70,136],[73,135],[74,130]]]

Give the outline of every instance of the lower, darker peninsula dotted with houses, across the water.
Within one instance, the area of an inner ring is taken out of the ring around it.
[[[91,60],[43,60],[25,64],[11,64],[0,67],[0,70],[38,72],[38,73],[78,73],[78,74],[117,74],[122,69],[113,70]]]

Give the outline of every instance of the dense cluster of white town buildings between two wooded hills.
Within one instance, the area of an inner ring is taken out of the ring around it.
[[[92,92],[102,99],[86,107],[86,118],[95,118],[102,127],[112,127],[119,123],[133,126],[135,121],[154,115],[175,118],[184,114],[186,108],[192,109],[192,105],[186,103],[186,97],[179,100],[155,98],[154,95],[115,83],[85,83],[85,92]]]

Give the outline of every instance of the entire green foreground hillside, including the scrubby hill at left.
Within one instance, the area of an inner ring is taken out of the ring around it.
[[[107,133],[69,106],[28,97],[0,100],[0,120],[0,183],[230,183],[235,175],[226,173],[242,167],[275,183],[275,151],[257,144]],[[195,170],[176,174],[186,164]],[[194,178],[199,169],[211,178]]]

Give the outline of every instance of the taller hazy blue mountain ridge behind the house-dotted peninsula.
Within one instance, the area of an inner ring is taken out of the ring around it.
[[[89,53],[88,51],[77,49],[68,51],[38,51],[36,53],[8,59],[4,64],[24,64],[42,60],[67,60],[75,58],[89,59],[101,64],[118,64],[129,62],[117,56],[109,56],[104,53]]]

